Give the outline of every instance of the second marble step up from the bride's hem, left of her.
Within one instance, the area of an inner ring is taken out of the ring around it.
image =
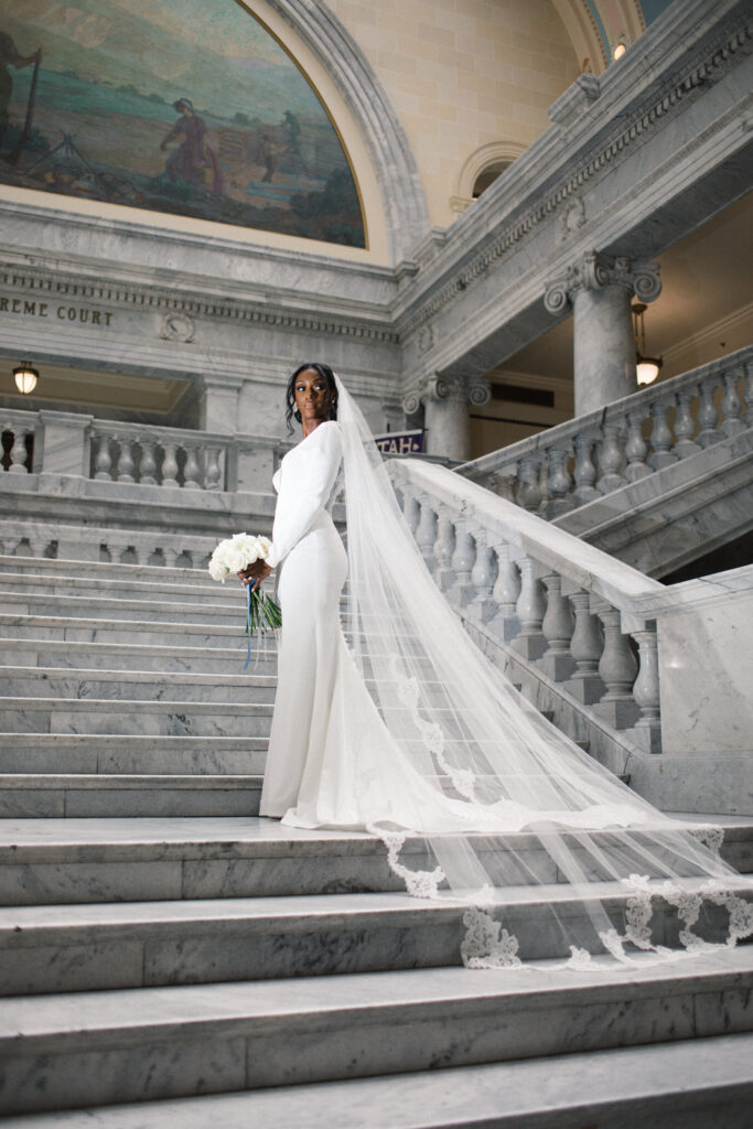
[[[0,772],[231,776],[264,771],[266,737],[0,733]]]

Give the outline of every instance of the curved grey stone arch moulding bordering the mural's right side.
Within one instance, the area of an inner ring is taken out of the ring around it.
[[[322,61],[361,130],[382,193],[393,263],[408,259],[429,230],[413,152],[389,98],[338,17],[310,0],[266,0]]]

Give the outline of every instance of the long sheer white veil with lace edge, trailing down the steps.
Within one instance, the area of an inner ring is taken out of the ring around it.
[[[752,934],[753,904],[739,892],[753,882],[719,857],[720,833],[690,830],[631,793],[475,648],[336,380],[352,656],[389,739],[431,789],[421,825],[368,825],[408,891],[466,904],[462,955],[473,968],[519,966],[520,928],[551,938],[553,927],[562,961],[584,969],[598,954],[630,968]],[[666,912],[653,920],[657,899],[675,908],[674,924]]]

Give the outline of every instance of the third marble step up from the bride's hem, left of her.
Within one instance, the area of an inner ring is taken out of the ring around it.
[[[271,700],[264,703],[0,698],[0,730],[5,733],[260,737],[269,735],[271,719]]]

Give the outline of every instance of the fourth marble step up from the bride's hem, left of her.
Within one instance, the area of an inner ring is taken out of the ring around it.
[[[9,698],[270,702],[277,679],[255,674],[252,666],[244,673],[240,664],[234,674],[14,665],[0,666],[0,685]]]

